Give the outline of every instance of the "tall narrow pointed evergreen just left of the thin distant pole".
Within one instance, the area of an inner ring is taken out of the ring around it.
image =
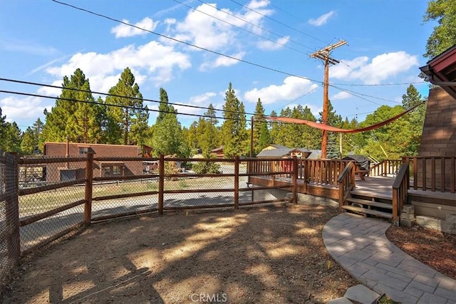
[[[232,83],[229,83],[224,100],[223,116],[225,120],[221,129],[224,155],[225,157],[246,155],[249,144],[244,104],[236,97]]]

